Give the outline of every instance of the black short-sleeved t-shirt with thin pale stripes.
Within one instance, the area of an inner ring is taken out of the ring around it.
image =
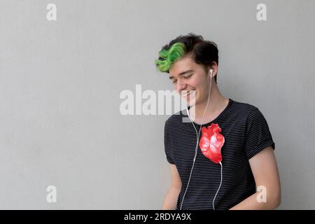
[[[182,183],[176,209],[214,209],[212,203],[221,183],[221,165],[202,154],[199,139],[193,167],[197,134],[193,124],[190,120],[187,122],[187,119],[186,110],[183,110],[174,113],[165,122],[166,158],[169,163],[176,165]],[[229,99],[228,106],[220,115],[202,127],[211,123],[219,125],[225,138],[221,148],[223,179],[214,207],[216,210],[226,210],[256,192],[248,160],[267,146],[274,149],[274,141],[264,116],[251,104]],[[200,125],[194,124],[199,132]],[[192,167],[193,172],[181,207]]]

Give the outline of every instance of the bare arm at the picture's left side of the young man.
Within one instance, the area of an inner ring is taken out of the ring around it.
[[[177,199],[181,192],[181,178],[177,171],[176,165],[171,165],[172,185],[167,192],[162,205],[162,210],[176,210]]]

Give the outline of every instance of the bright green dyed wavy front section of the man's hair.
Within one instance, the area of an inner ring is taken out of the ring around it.
[[[169,72],[171,66],[178,59],[183,57],[186,54],[186,45],[184,43],[174,43],[169,50],[160,50],[159,59],[155,59],[155,65],[158,68],[158,71]]]

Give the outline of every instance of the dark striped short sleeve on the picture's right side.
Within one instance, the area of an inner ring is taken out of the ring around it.
[[[248,160],[268,146],[275,148],[267,121],[255,107],[246,120],[245,151]]]

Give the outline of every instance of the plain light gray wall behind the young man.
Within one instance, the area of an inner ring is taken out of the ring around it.
[[[57,21],[46,20],[48,3]],[[256,19],[265,3],[267,21]],[[279,209],[315,209],[315,1],[0,1],[0,209],[160,209],[164,116],[120,92],[172,90],[153,64],[194,32],[219,47],[218,87],[258,106],[276,143]],[[57,203],[46,201],[56,186]]]

